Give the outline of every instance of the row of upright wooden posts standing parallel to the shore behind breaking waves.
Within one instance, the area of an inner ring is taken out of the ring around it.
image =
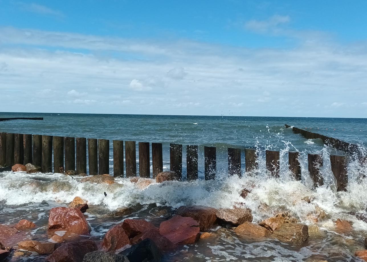
[[[88,141],[88,149],[87,149]],[[76,142],[76,146],[75,146]],[[52,137],[49,135],[29,135],[0,133],[0,165],[32,163],[40,166],[42,172],[61,173],[76,170],[76,174],[87,173],[87,150],[89,174],[109,174],[109,140],[94,138]],[[54,163],[52,164],[52,148]],[[76,148],[76,152],[75,152]],[[150,144],[139,142],[139,176],[150,178]],[[125,141],[126,177],[137,176],[136,142]],[[65,165],[64,165],[65,160]],[[345,156],[331,155],[331,169],[337,180],[338,191],[346,190],[348,175]],[[76,163],[76,165],[75,165]],[[152,143],[153,178],[163,171],[163,150],[161,143]],[[299,152],[289,152],[288,165],[295,180],[301,180]],[[308,171],[314,186],[323,185],[320,168],[323,159],[320,154],[308,154]],[[187,179],[198,178],[198,146],[186,147]],[[214,179],[217,172],[216,148],[204,146],[205,179]],[[246,172],[258,169],[257,152],[245,149]],[[266,169],[277,178],[280,171],[280,152],[266,150]],[[170,144],[170,170],[177,179],[182,179],[182,145]],[[228,148],[228,174],[241,177],[241,149]],[[124,176],[124,142],[113,140],[113,176]]]

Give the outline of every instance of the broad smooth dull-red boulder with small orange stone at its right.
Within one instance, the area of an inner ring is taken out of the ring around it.
[[[174,244],[193,244],[200,236],[199,222],[176,215],[160,224],[159,233]]]

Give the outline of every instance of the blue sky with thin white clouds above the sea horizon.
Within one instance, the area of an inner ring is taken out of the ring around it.
[[[0,112],[366,118],[366,10],[0,0]]]

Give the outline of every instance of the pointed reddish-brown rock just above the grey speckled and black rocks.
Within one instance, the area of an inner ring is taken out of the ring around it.
[[[121,224],[115,225],[107,231],[102,241],[102,248],[106,251],[115,251],[130,244],[128,235],[121,227]]]

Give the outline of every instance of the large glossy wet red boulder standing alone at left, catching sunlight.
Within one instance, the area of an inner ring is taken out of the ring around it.
[[[48,230],[66,230],[68,232],[88,235],[90,226],[84,215],[75,207],[54,207],[50,210]]]

